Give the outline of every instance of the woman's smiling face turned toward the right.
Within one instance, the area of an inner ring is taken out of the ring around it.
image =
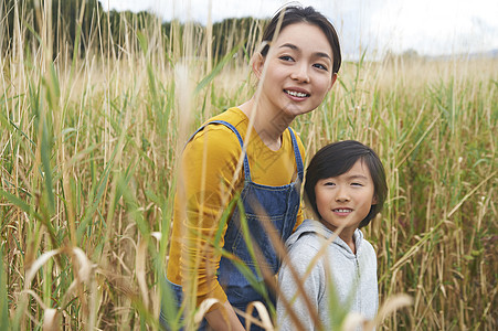
[[[265,58],[255,64],[263,82],[264,107],[290,118],[317,108],[336,82],[333,53],[320,28],[299,22],[285,26]]]

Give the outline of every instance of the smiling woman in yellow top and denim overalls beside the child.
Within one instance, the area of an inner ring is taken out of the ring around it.
[[[261,221],[272,221],[283,241],[303,222],[304,147],[289,125],[320,105],[341,63],[332,24],[310,7],[282,9],[265,29],[263,42],[265,46],[252,58],[258,92],[208,120],[191,137],[181,159],[167,278],[178,303],[182,297],[197,306],[206,298],[222,302],[205,314],[215,330],[227,323],[232,330],[243,330],[244,319],[233,307],[245,311],[252,301],[274,305],[231,259],[215,252],[213,243],[218,236],[219,245],[263,281],[241,231],[243,212],[252,242],[276,274],[279,261]],[[241,154],[243,163],[237,168]],[[230,204],[239,197],[243,209]],[[223,212],[230,216],[226,223]],[[186,290],[186,285],[191,289]]]

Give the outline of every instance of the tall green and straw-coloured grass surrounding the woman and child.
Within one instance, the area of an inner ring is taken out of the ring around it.
[[[0,39],[1,325],[158,328],[178,156],[254,93],[253,50],[233,29],[232,53],[211,58],[210,26],[165,35],[123,15],[125,47],[105,47],[96,21],[95,47],[57,41],[53,54],[50,6],[17,3],[13,39]],[[261,23],[250,29],[257,40]],[[497,82],[496,58],[346,63],[293,125],[308,156],[358,139],[385,164],[390,196],[367,238],[381,303],[413,305],[380,329],[498,328]]]

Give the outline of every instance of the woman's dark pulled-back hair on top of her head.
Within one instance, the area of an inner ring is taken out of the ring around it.
[[[269,43],[272,42],[275,32],[277,30],[278,23],[280,21],[280,15],[284,15],[282,19],[282,25],[279,31],[284,30],[285,26],[295,24],[295,23],[309,23],[316,25],[324,31],[325,36],[327,38],[330,46],[332,47],[333,55],[333,65],[332,65],[332,74],[337,74],[339,72],[341,65],[341,53],[339,45],[339,38],[337,36],[336,29],[330,23],[330,21],[324,17],[320,12],[316,11],[312,7],[300,7],[300,6],[290,6],[284,7],[280,9],[269,21],[268,25],[266,25],[265,31],[263,32],[263,42],[266,42],[266,45],[261,51],[263,56],[268,54]]]

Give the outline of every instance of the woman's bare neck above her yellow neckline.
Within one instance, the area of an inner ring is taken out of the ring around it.
[[[254,97],[239,108],[250,121],[254,116],[253,128],[271,150],[276,151],[282,147],[282,134],[289,127],[294,118],[286,117],[284,111],[272,111],[268,107],[257,107]],[[257,111],[257,114],[253,114],[253,111]]]

